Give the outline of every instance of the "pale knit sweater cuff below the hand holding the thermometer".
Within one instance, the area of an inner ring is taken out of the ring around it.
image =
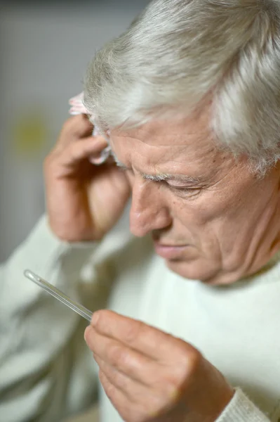
[[[234,397],[216,422],[269,422],[269,419],[240,388],[236,388]]]

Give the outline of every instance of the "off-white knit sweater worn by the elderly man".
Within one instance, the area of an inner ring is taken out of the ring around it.
[[[25,279],[27,268],[92,311],[110,307],[197,347],[236,388],[217,422],[280,421],[279,255],[251,279],[211,287],[169,271],[147,238],[113,231],[69,245],[43,217],[0,269],[1,422],[62,421],[98,392],[86,322]],[[102,388],[99,399],[102,422],[120,422]]]

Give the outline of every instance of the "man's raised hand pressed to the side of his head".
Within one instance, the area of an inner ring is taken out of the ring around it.
[[[92,136],[86,115],[65,122],[45,161],[49,224],[63,241],[98,241],[121,217],[131,193],[126,174],[114,163],[89,162],[107,142]]]

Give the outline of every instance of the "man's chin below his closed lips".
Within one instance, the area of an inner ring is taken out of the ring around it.
[[[236,273],[225,273],[220,266],[213,266],[201,260],[195,262],[166,260],[166,265],[184,279],[201,281],[209,286],[232,284],[240,279]]]

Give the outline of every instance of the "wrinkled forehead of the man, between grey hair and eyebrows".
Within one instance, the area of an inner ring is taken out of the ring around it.
[[[185,176],[206,181],[225,170],[229,162],[216,147],[203,119],[161,119],[126,131],[112,131],[111,146],[119,167],[145,174],[145,178]]]

